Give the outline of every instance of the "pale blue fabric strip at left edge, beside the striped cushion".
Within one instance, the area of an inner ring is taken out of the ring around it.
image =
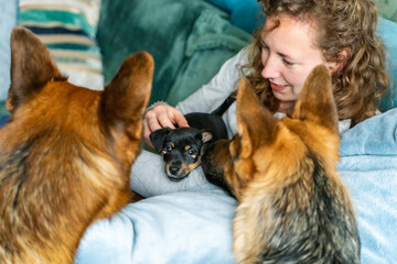
[[[10,36],[17,25],[18,3],[18,0],[0,0],[0,101],[6,101],[10,87]]]

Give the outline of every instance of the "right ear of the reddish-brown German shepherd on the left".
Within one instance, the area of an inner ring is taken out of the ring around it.
[[[132,54],[124,61],[101,96],[101,116],[107,128],[122,128],[142,119],[150,97],[153,68],[153,58],[147,52]]]

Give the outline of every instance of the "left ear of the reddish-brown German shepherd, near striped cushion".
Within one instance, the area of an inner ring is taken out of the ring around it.
[[[51,79],[66,79],[60,74],[46,46],[31,31],[18,26],[11,33],[11,86],[7,99],[10,112]]]

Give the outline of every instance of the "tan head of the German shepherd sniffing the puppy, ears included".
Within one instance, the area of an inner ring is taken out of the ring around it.
[[[250,183],[269,188],[291,184],[302,175],[302,161],[309,155],[331,175],[335,169],[337,114],[325,66],[309,75],[291,117],[273,118],[246,79],[238,88],[236,114],[238,133],[232,141],[205,146],[202,165],[210,182],[226,185],[237,199]]]

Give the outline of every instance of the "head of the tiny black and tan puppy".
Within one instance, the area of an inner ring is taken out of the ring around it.
[[[212,133],[194,128],[164,128],[150,134],[155,150],[162,154],[164,170],[171,180],[181,180],[201,163],[201,150]]]

